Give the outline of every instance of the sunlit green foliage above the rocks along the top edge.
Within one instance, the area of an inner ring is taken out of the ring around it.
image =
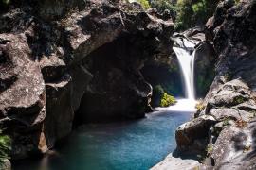
[[[185,30],[204,25],[214,13],[220,0],[136,0],[145,9],[156,8],[159,12],[168,9],[175,20],[175,30]],[[236,3],[239,0],[236,0]]]

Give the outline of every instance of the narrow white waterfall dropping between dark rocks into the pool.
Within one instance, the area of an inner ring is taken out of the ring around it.
[[[194,65],[194,52],[192,55],[189,51],[184,48],[174,47],[174,52],[177,56],[182,76],[184,79],[184,87],[185,87],[185,97],[190,100],[195,99],[194,93],[194,82],[193,82],[193,65]]]

